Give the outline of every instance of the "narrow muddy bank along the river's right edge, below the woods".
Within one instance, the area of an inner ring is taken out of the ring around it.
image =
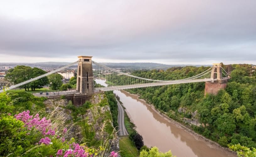
[[[134,94],[134,93],[130,93],[128,91],[124,91],[123,92],[126,92],[130,95],[133,95],[133,96],[136,96],[139,100],[143,101],[145,104],[147,104],[148,106],[150,106],[150,108],[152,110],[154,110],[158,115],[160,115],[161,117],[163,117],[165,120],[167,120],[168,122],[174,124],[176,127],[179,127],[181,128],[182,130],[186,131],[187,133],[193,135],[195,138],[200,138],[204,141],[206,141],[207,143],[211,144],[212,146],[215,146],[215,149],[221,149],[222,151],[225,151],[227,152],[228,154],[233,154],[232,156],[236,156],[237,153],[235,151],[231,151],[230,149],[226,148],[226,147],[222,147],[219,143],[217,142],[214,142],[208,138],[205,138],[203,135],[200,135],[196,132],[194,132],[192,129],[189,128],[189,126],[185,126],[184,124],[180,123],[180,122],[177,122],[175,120],[173,120],[172,118],[168,117],[167,115],[165,115],[164,113],[160,112],[159,110],[155,109],[155,106],[148,103],[146,100],[144,99],[140,99],[140,95],[138,94]]]

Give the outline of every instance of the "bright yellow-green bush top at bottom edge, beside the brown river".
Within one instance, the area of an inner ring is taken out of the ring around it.
[[[159,151],[157,147],[152,147],[149,151],[142,150],[139,154],[139,157],[172,157],[172,152],[169,150],[166,153]]]

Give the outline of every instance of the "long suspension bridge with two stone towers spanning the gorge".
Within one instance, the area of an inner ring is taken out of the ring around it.
[[[37,79],[46,77],[52,73],[57,73],[63,69],[66,69],[73,65],[78,65],[77,72],[77,87],[76,89],[58,92],[58,95],[67,94],[89,94],[98,91],[112,91],[112,90],[122,90],[122,89],[133,89],[133,88],[143,88],[152,86],[162,86],[170,84],[184,84],[184,83],[195,83],[195,82],[222,82],[226,80],[229,76],[228,73],[221,67],[221,64],[213,64],[212,67],[199,73],[195,76],[177,80],[155,80],[150,78],[142,78],[139,76],[131,75],[130,73],[124,73],[120,70],[109,68],[101,63],[92,61],[90,56],[79,56],[79,60],[68,64],[62,68],[58,68],[49,73],[43,74],[41,76],[31,78],[30,80],[24,81],[19,84],[12,85],[4,90],[15,89],[22,85],[28,84]],[[92,68],[94,67],[96,68]],[[224,76],[224,77],[222,77]],[[94,83],[94,79],[106,79],[108,86],[101,86]],[[221,83],[222,84],[222,83]],[[218,87],[222,88],[222,87]],[[225,88],[225,87],[224,87]],[[0,90],[0,93],[4,90]],[[55,93],[54,93],[55,94]],[[40,95],[42,96],[42,95]]]

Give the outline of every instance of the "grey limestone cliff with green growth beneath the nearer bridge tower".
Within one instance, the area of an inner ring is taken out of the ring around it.
[[[69,138],[86,142],[88,146],[111,146],[111,151],[119,151],[119,140],[115,136],[112,115],[106,95],[93,95],[89,102],[76,107],[66,99],[47,99],[44,101],[46,113],[60,116],[69,130]],[[114,133],[114,134],[113,134]]]

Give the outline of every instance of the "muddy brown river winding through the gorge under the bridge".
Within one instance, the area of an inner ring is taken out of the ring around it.
[[[105,80],[95,79],[96,83],[106,86]],[[137,95],[123,90],[115,90],[136,130],[142,135],[144,145],[156,146],[160,151],[171,149],[177,157],[226,157],[236,156],[230,151],[219,148],[203,138],[190,134],[177,127],[170,120],[159,115],[150,105],[140,100]]]

